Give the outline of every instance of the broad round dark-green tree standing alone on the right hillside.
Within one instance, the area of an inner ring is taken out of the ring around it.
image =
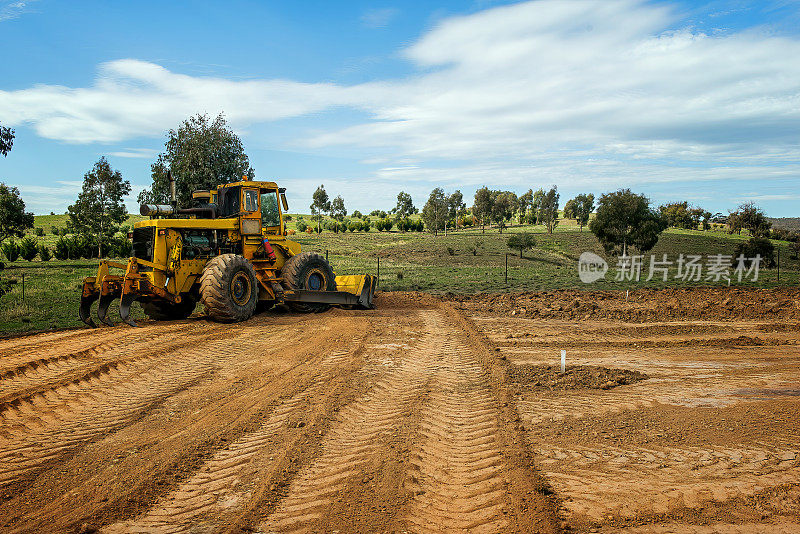
[[[609,254],[628,255],[630,247],[647,252],[658,242],[667,223],[644,195],[620,189],[600,197],[589,229]]]

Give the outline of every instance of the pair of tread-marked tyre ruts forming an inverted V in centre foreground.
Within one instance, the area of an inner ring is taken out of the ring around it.
[[[323,454],[295,479],[260,531],[297,532],[335,522],[326,516],[334,501],[348,500],[346,488],[371,459],[391,457],[382,438],[397,432],[419,402],[422,421],[405,482],[410,502],[400,521],[414,532],[503,531],[504,466],[494,397],[463,333],[437,311],[422,312],[422,320],[420,342],[342,410]]]

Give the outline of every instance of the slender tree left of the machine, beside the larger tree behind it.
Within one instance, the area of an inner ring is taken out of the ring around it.
[[[103,255],[103,241],[113,237],[128,218],[122,198],[130,192],[131,183],[105,157],[83,175],[83,189],[68,208],[69,227],[74,233],[97,236],[98,256]]]

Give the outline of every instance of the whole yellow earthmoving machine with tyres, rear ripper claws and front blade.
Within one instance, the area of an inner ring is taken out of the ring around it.
[[[150,219],[134,224],[127,264],[102,260],[97,275],[83,282],[79,315],[89,326],[91,306],[104,324],[120,299],[119,313],[131,326],[138,301],[151,319],[185,319],[198,302],[219,322],[238,322],[257,310],[286,304],[299,312],[339,305],[372,308],[376,278],[335,276],[326,259],[301,252],[286,238],[285,189],[275,182],[248,180],[195,191],[194,206],[179,208],[171,173],[171,205],[144,204]],[[121,269],[124,274],[111,274]]]

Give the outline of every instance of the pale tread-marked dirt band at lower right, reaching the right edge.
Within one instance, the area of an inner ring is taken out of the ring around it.
[[[787,447],[537,447],[564,507],[598,521],[669,514],[724,503],[800,479],[800,452]]]

